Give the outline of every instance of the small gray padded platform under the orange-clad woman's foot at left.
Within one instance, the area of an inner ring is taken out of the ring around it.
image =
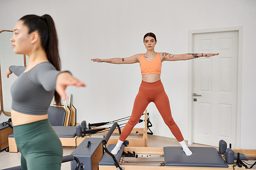
[[[115,146],[116,146],[116,144],[109,144],[108,150],[112,151],[115,148]],[[117,161],[120,160],[122,153],[123,153],[123,149],[124,149],[124,144],[121,145],[121,148],[118,151],[118,153],[116,155],[114,155]],[[99,165],[114,166],[114,160],[109,154],[104,153],[102,158],[99,161]]]

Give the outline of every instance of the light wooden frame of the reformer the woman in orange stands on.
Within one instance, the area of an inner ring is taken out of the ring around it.
[[[232,149],[236,153],[243,153],[247,157],[256,157],[256,150],[243,150],[243,149]],[[144,147],[124,147],[123,150],[125,153],[128,151],[133,153],[135,152],[136,154],[146,154],[146,155],[164,155],[163,148],[144,148]],[[222,155],[223,159],[225,160],[224,156]],[[142,162],[143,163],[143,162]],[[121,164],[120,167],[123,167],[124,170],[153,170],[153,169],[172,169],[172,170],[187,170],[187,169],[199,169],[199,170],[210,170],[210,169],[215,169],[215,170],[225,170],[225,169],[233,169],[233,164],[228,164],[228,167],[225,168],[218,168],[218,167],[189,167],[189,166],[141,166],[141,165],[125,165]],[[244,168],[244,167],[242,167]],[[99,170],[116,170],[116,166],[106,166],[106,165],[99,165]]]

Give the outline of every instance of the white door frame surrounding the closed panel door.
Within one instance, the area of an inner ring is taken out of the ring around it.
[[[242,61],[243,61],[243,26],[212,28],[188,31],[188,52],[193,52],[194,34],[238,31],[238,98],[237,98],[237,144],[233,148],[241,147],[241,106],[242,106]],[[217,53],[217,52],[216,52]],[[188,60],[188,144],[193,143],[193,60]]]

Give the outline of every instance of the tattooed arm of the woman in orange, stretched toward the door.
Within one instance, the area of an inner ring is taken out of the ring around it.
[[[162,61],[178,61],[178,60],[190,60],[198,57],[211,57],[217,56],[219,53],[216,54],[206,54],[206,53],[188,53],[188,54],[169,54],[169,53],[160,53],[162,56]]]

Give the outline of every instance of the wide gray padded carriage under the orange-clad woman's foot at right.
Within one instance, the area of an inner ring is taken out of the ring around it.
[[[216,148],[188,147],[193,153],[186,156],[181,147],[164,147],[165,166],[228,167]]]

